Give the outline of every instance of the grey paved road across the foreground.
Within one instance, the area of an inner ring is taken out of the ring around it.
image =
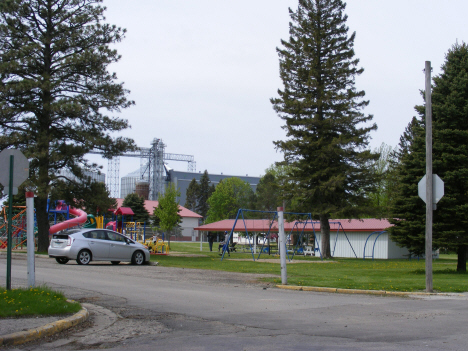
[[[5,262],[0,260],[3,282]],[[256,278],[38,259],[36,282],[91,303],[92,323],[19,349],[468,349],[467,295],[413,299],[288,291]],[[26,284],[25,260],[13,261],[12,282]]]

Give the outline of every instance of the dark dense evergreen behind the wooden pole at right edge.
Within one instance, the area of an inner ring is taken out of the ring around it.
[[[468,248],[468,45],[455,44],[447,53],[442,73],[434,77],[432,89],[433,124],[433,172],[444,181],[445,195],[434,211],[433,246],[445,247],[458,255],[457,271],[466,272]],[[417,106],[421,119],[425,118],[424,106]],[[417,182],[425,173],[424,132],[416,135],[409,161],[404,172],[414,174],[408,179],[399,179],[409,189],[407,197],[417,197]],[[413,161],[414,160],[414,161]],[[413,161],[413,162],[411,162]],[[422,201],[419,206],[424,209]],[[410,206],[409,200],[402,199],[397,210]],[[414,205],[413,205],[414,206]],[[400,210],[400,212],[403,212]],[[422,211],[421,211],[422,212]],[[392,237],[404,242],[411,233],[405,226],[425,226],[425,216],[418,218],[398,216],[396,234]],[[403,223],[408,222],[408,223]],[[398,232],[400,231],[400,232]],[[419,242],[424,243],[424,230],[419,231]],[[399,234],[399,235],[398,235]]]

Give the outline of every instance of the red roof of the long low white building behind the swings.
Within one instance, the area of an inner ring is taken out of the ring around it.
[[[234,226],[234,219],[225,219],[219,222],[214,222],[210,224],[205,224],[200,227],[195,228],[195,230],[210,231],[210,232],[224,232],[231,231]],[[330,219],[330,231],[338,230],[341,227],[344,231],[350,232],[376,232],[383,231],[392,225],[386,219],[375,219],[375,218],[365,218],[365,219]],[[285,232],[290,232],[293,229],[302,231],[303,225],[297,222],[284,222]],[[313,225],[313,229],[312,229]],[[236,223],[234,231],[241,232],[246,229],[249,232],[268,232],[270,227],[270,220],[268,219],[246,219],[245,221],[239,219]],[[313,223],[308,223],[304,228],[304,231],[311,232],[312,230],[320,231],[320,222],[314,221]],[[278,222],[273,222],[270,232],[278,232]]]

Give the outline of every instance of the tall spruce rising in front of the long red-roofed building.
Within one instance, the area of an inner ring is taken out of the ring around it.
[[[354,58],[355,33],[348,36],[341,0],[299,0],[289,9],[289,40],[277,49],[284,88],[271,100],[286,123],[287,139],[276,141],[288,168],[288,191],[304,210],[318,216],[322,252],[330,257],[331,214],[356,216],[373,187],[366,165],[372,116],[364,91],[355,88],[363,72]]]

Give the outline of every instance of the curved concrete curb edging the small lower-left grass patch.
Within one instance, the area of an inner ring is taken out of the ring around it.
[[[51,336],[62,330],[83,323],[88,318],[88,310],[82,307],[81,311],[71,317],[48,323],[42,327],[0,336],[0,347],[6,345],[21,345],[29,341]]]

